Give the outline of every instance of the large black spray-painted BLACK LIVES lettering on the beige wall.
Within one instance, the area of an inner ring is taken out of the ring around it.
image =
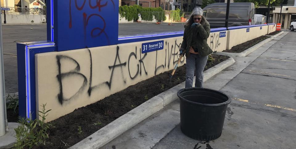
[[[177,41],[175,41],[175,45],[171,45],[171,47],[170,47],[170,44],[166,42],[166,46],[167,46],[167,48],[165,49],[166,55],[163,58],[165,61],[164,61],[164,64],[162,63],[158,67],[157,67],[157,64],[161,63],[161,61],[157,59],[158,52],[156,51],[156,52],[148,53],[148,54],[155,54],[155,56],[156,56],[155,71],[154,71],[155,75],[156,75],[157,71],[160,70],[161,68],[163,68],[163,69],[170,68],[170,63],[171,63],[172,56],[173,56],[173,64],[175,65],[175,63],[177,63],[177,61],[178,61],[177,55],[178,55],[178,52],[179,52],[180,45],[181,45],[181,43],[177,44]],[[173,49],[174,49],[174,52],[173,52]],[[119,54],[120,53],[120,48],[117,46],[116,56],[114,58],[114,63],[113,63],[113,65],[108,66],[109,70],[111,71],[109,81],[101,82],[101,83],[98,83],[97,85],[93,86],[92,85],[92,83],[93,83],[92,82],[93,81],[92,77],[94,77],[93,74],[92,74],[93,73],[92,72],[92,69],[93,69],[93,62],[92,62],[93,56],[92,56],[92,53],[91,53],[90,50],[88,50],[88,53],[89,53],[89,60],[90,60],[89,79],[87,79],[87,77],[84,74],[80,73],[80,64],[75,59],[73,59],[72,57],[69,57],[69,56],[64,56],[64,55],[56,56],[57,65],[58,65],[58,75],[56,77],[57,77],[57,80],[59,82],[59,87],[60,87],[60,93],[58,93],[57,98],[58,98],[58,101],[60,102],[61,105],[64,103],[64,101],[70,101],[71,99],[74,99],[74,98],[78,97],[81,93],[83,93],[83,91],[86,88],[87,84],[88,84],[88,89],[87,89],[88,96],[91,96],[92,91],[94,91],[96,89],[99,89],[100,87],[105,86],[105,85],[107,85],[108,88],[111,90],[112,84],[114,84],[114,83],[112,83],[114,73],[118,73],[118,71],[115,72],[115,69],[120,68],[120,70],[121,70],[121,72],[120,72],[121,79],[122,79],[122,81],[124,83],[126,83],[126,79],[125,79],[125,76],[124,76],[124,69],[126,69],[126,64],[128,64],[127,69],[129,71],[129,75],[130,75],[131,80],[134,80],[135,78],[137,78],[139,76],[139,74],[140,74],[140,76],[142,76],[142,70],[143,70],[143,74],[145,73],[146,76],[149,73],[149,72],[147,72],[147,70],[145,68],[145,62],[144,62],[145,57],[148,55],[147,53],[142,54],[141,53],[141,48],[139,49],[139,52],[138,52],[137,47],[136,47],[135,52],[131,52],[129,54],[128,61],[127,62],[121,62],[120,54]],[[130,61],[132,59],[137,60],[137,63],[131,63]],[[68,72],[63,72],[62,69],[65,67],[65,65],[63,66],[63,62],[65,62],[65,61],[67,61],[67,64],[69,64],[69,63],[74,64],[76,67],[73,68],[72,70],[68,71]],[[182,60],[182,63],[183,62],[184,62],[184,59]],[[131,67],[136,67],[137,72],[135,74],[131,74],[131,71],[130,71]],[[100,69],[100,68],[96,68],[96,69]],[[63,93],[63,83],[66,83],[63,80],[66,79],[67,77],[74,77],[75,81],[76,80],[79,81],[79,79],[83,80],[83,83],[80,86],[80,88],[78,89],[78,91],[73,93],[70,98],[65,98],[63,96],[64,95],[64,93]],[[95,76],[95,77],[100,77],[100,76]]]

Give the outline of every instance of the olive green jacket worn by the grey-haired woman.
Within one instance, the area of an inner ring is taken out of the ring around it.
[[[212,49],[209,47],[207,43],[207,39],[210,35],[210,24],[208,21],[205,21],[204,25],[198,24],[195,27],[185,26],[183,42],[180,50],[185,50],[185,56],[188,57],[190,55],[189,48],[192,41],[193,32],[197,31],[197,45],[198,53],[200,56],[208,56],[213,53]]]

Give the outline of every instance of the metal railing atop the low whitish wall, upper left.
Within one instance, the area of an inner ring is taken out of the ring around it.
[[[46,14],[46,9],[41,8],[14,8],[14,7],[5,7],[10,8],[10,10],[5,10],[6,14]],[[4,13],[4,10],[2,10]]]

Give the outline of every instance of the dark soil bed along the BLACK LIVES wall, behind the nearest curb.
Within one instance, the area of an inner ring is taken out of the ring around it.
[[[212,55],[212,57],[214,60],[208,60],[205,70],[229,58],[221,55]],[[52,121],[55,128],[50,130],[46,145],[34,148],[71,147],[143,102],[185,81],[186,64],[177,68],[174,77],[168,81],[171,72],[163,72],[141,81],[121,92],[105,97],[94,104],[78,108]],[[15,122],[17,114],[8,114],[8,120]],[[81,130],[78,130],[79,127]]]

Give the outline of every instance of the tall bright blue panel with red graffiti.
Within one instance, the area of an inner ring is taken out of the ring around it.
[[[58,51],[117,44],[118,6],[118,0],[54,0]]]

